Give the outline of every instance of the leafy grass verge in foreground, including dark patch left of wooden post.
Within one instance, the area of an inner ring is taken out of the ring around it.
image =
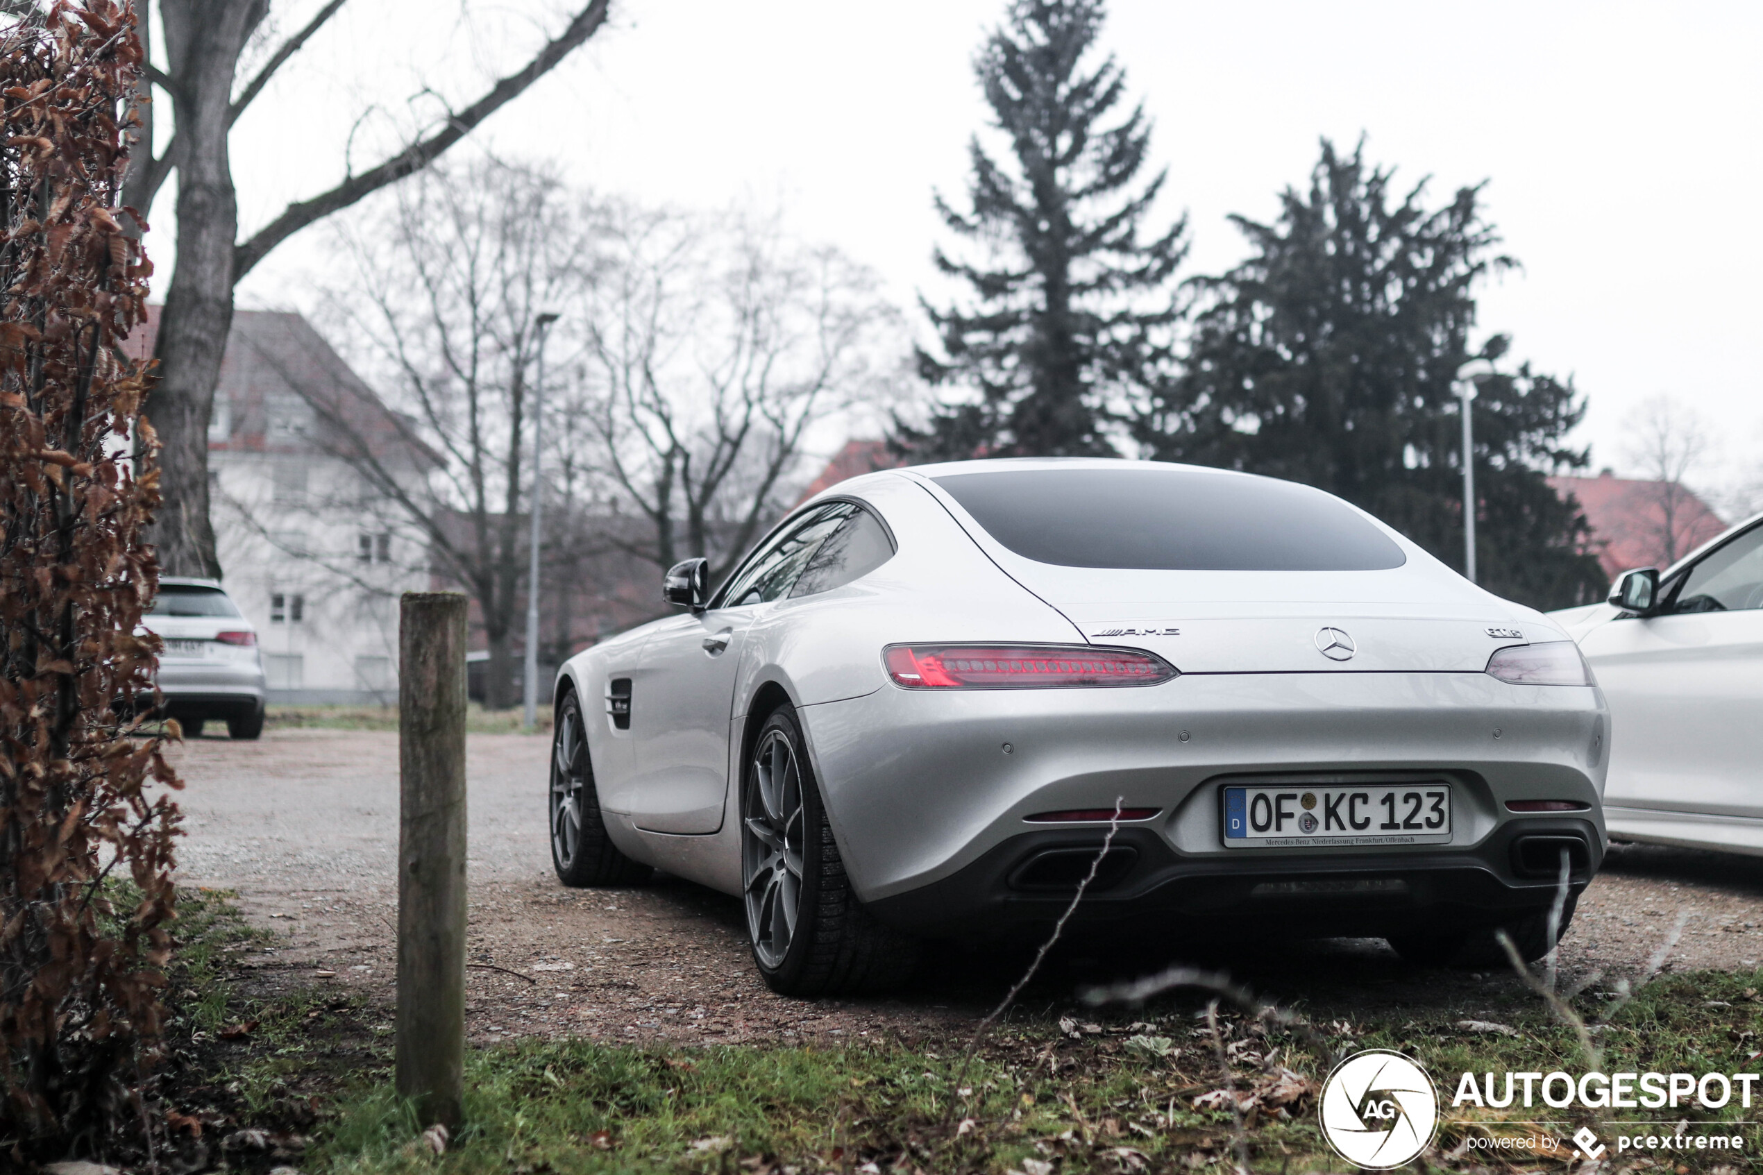
[[[443,1171],[538,1175],[598,1171],[1227,1171],[1236,1133],[1225,1075],[1192,994],[1116,1018],[1060,1013],[993,1036],[963,1071],[964,1038],[703,1048],[605,1045],[591,1039],[520,1041],[471,1050],[467,1126],[444,1156],[423,1145],[411,1106],[391,1092],[388,1009],[367,1006],[301,974],[245,972],[240,960],[273,944],[224,891],[180,897],[180,953],[171,974],[178,1080],[164,1090],[180,1113],[206,1113],[213,1136],[247,1127],[284,1138],[234,1157],[264,1170],[289,1157],[309,1175]],[[273,965],[272,965],[273,971]],[[1594,1025],[1604,1073],[1754,1073],[1763,1050],[1763,972],[1663,976],[1615,1008],[1597,988],[1574,999]],[[1474,1013],[1430,1006],[1358,1013],[1319,1024],[1328,1048],[1395,1048],[1433,1075],[1442,1105],[1442,1170],[1553,1170],[1525,1152],[1456,1149],[1470,1136],[1566,1140],[1592,1126],[1606,1143],[1617,1127],[1685,1120],[1728,1124],[1745,1150],[1652,1152],[1622,1163],[1715,1171],[1752,1166],[1763,1133],[1763,1082],[1751,1108],[1550,1108],[1541,1097],[1497,1110],[1458,1106],[1463,1073],[1564,1071],[1590,1066],[1578,1036],[1518,983],[1490,979]],[[1474,1015],[1483,1029],[1462,1027]],[[1222,1015],[1229,1089],[1259,1094],[1245,1108],[1255,1171],[1347,1171],[1315,1126],[1326,1060],[1299,1034]],[[1499,1025],[1488,1029],[1486,1025]],[[957,1080],[961,1087],[957,1089]],[[1283,1090],[1283,1092],[1282,1092]],[[314,1136],[298,1150],[296,1133]],[[273,1147],[273,1143],[272,1143]],[[1611,1147],[1611,1157],[1615,1150]]]

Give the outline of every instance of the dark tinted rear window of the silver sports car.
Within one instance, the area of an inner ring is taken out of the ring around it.
[[[1380,571],[1402,548],[1350,506],[1273,477],[1178,467],[943,474],[1024,558],[1137,571]]]

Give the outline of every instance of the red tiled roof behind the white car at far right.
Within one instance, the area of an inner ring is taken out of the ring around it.
[[[1585,520],[1592,523],[1592,548],[1611,580],[1633,567],[1664,569],[1726,530],[1707,502],[1675,483],[1634,481],[1608,472],[1597,477],[1550,477],[1548,483],[1555,493],[1580,502]],[[1670,527],[1668,504],[1673,507]]]

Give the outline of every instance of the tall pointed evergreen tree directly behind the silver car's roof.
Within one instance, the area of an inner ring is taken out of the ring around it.
[[[919,368],[978,400],[940,407],[924,430],[897,426],[901,453],[1112,456],[1111,405],[1169,361],[1186,220],[1141,240],[1165,173],[1139,180],[1151,141],[1142,106],[1104,125],[1127,81],[1112,56],[1086,63],[1102,21],[1102,0],[1015,0],[975,58],[1010,151],[994,159],[975,136],[968,210],[936,197],[975,259],[936,250],[936,268],[968,292],[945,308],[920,298],[941,354],[919,351]]]

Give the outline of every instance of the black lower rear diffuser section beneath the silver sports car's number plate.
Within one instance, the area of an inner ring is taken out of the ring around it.
[[[1088,872],[1104,830],[1030,831],[927,886],[871,904],[896,927],[968,939],[1008,937],[1056,921]],[[1513,821],[1481,844],[1454,851],[1365,856],[1271,856],[1241,849],[1225,858],[1183,856],[1151,828],[1121,828],[1072,918],[1079,928],[1227,930],[1253,927],[1308,937],[1384,937],[1440,925],[1497,925],[1544,911],[1558,874],[1539,876],[1520,840],[1571,844],[1569,890],[1578,895],[1603,861],[1588,819]],[[1051,865],[1051,868],[1049,868]]]

